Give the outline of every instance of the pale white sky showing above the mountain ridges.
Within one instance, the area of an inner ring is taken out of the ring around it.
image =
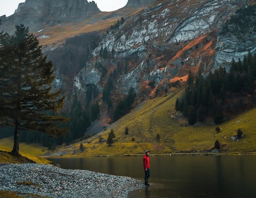
[[[70,0],[72,1],[72,0]],[[87,0],[92,2],[91,0]],[[0,0],[0,16],[10,16],[18,8],[19,3],[24,3],[25,0]],[[114,11],[124,7],[128,0],[94,0],[101,11]]]

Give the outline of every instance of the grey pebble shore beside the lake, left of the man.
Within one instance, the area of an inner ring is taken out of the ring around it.
[[[63,198],[127,197],[129,191],[142,187],[139,180],[88,170],[44,164],[0,165],[0,190]]]

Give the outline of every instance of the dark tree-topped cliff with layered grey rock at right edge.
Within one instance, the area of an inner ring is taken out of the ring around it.
[[[255,7],[237,10],[223,26],[217,35],[215,66],[228,65],[234,60],[251,52],[256,53],[256,15]]]

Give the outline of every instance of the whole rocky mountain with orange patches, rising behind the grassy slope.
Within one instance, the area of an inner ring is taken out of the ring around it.
[[[63,111],[74,111],[76,100],[80,109],[99,104],[92,134],[111,124],[131,88],[140,105],[173,93],[172,82],[189,71],[207,76],[255,54],[255,12],[248,0],[129,0],[114,12],[86,0],[27,0],[0,18],[0,29],[11,33],[23,22],[38,37],[54,65],[54,87],[66,95]]]

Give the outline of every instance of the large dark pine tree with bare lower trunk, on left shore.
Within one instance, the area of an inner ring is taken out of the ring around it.
[[[24,24],[13,35],[0,33],[0,116],[1,126],[14,127],[12,155],[19,155],[21,130],[56,136],[67,128],[57,128],[66,118],[56,113],[63,105],[60,90],[53,91],[52,62],[42,55],[37,38]]]

